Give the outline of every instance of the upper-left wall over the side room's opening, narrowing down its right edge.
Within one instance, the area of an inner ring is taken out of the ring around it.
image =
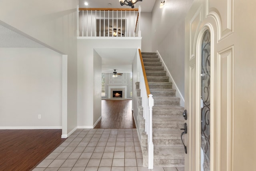
[[[68,55],[67,132],[77,126],[78,0],[1,0],[0,22],[44,46]]]

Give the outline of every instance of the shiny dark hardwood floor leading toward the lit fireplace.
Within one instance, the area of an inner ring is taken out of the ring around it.
[[[102,100],[102,118],[94,128],[136,128],[132,100]]]

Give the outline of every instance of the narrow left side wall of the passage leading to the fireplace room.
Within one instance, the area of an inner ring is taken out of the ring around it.
[[[93,53],[93,124],[95,125],[101,117],[101,57],[94,50]]]

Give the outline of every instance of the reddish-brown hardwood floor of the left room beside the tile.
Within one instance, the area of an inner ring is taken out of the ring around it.
[[[65,139],[61,129],[0,130],[0,171],[30,171]]]

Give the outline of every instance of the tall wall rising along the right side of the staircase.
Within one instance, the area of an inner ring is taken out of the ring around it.
[[[193,0],[166,1],[162,9],[160,2],[152,11],[152,52],[158,50],[184,97],[184,19]]]

